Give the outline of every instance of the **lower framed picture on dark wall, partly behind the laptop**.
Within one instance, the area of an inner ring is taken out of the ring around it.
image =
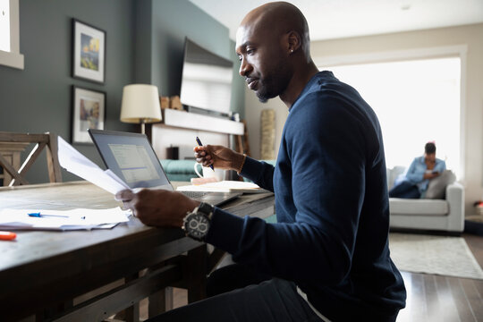
[[[72,86],[72,143],[92,143],[88,129],[104,130],[106,93]]]

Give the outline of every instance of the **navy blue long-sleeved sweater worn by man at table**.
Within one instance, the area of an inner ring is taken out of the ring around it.
[[[386,163],[377,116],[332,72],[292,105],[275,167],[242,175],[275,192],[277,224],[216,208],[207,242],[237,262],[295,282],[333,321],[394,321],[405,304],[389,256]]]

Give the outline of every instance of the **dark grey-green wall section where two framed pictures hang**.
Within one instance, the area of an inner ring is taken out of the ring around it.
[[[106,129],[132,131],[120,123],[123,86],[133,75],[131,0],[20,1],[23,71],[0,66],[0,131],[52,131],[71,138],[72,85],[106,92]],[[71,77],[72,18],[106,31],[106,82]],[[75,146],[100,164],[92,145]],[[24,156],[25,157],[25,156]],[[30,169],[27,180],[48,182],[45,157]],[[64,181],[75,179],[63,172]]]

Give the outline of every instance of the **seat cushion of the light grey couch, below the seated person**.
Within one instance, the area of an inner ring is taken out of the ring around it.
[[[399,215],[444,216],[449,212],[448,203],[441,199],[402,199],[390,198],[389,211]]]

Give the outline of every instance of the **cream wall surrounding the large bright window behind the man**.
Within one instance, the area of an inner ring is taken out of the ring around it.
[[[434,47],[467,46],[466,65],[462,66],[462,150],[464,151],[464,174],[466,214],[475,214],[474,201],[483,199],[483,23],[419,30],[386,35],[342,38],[316,41],[311,44],[315,59],[337,55],[379,55],[388,51],[405,51]],[[417,75],[415,75],[417,77]],[[275,145],[280,142],[282,124],[287,109],[280,99],[270,100],[267,105],[258,103],[255,95],[246,89],[245,113],[250,135],[250,148],[254,157],[259,156],[259,113],[264,107],[275,108]],[[257,148],[257,149],[256,149]]]

